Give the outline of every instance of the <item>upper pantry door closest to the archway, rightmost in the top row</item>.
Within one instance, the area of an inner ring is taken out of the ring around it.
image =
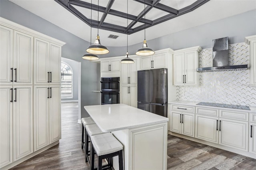
[[[50,44],[50,83],[60,84],[61,47]]]

